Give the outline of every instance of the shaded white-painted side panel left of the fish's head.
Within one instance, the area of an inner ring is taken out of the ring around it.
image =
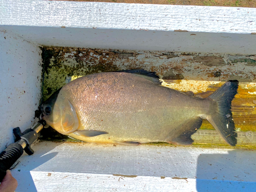
[[[34,123],[41,98],[41,50],[0,32],[0,151],[14,142],[12,129]]]

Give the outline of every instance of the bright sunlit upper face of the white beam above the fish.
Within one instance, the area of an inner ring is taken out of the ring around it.
[[[256,32],[254,8],[0,1],[1,25],[211,33]],[[239,24],[239,25],[237,25]]]

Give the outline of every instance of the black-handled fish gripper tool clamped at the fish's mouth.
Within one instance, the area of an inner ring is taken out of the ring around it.
[[[25,130],[23,133],[19,127],[13,129],[13,134],[16,137],[15,143],[7,146],[7,148],[0,153],[0,182],[6,175],[6,170],[10,169],[11,166],[22,156],[23,151],[28,155],[34,154],[31,148],[31,144],[38,138],[38,133],[46,125],[45,120],[38,121],[31,129]]]

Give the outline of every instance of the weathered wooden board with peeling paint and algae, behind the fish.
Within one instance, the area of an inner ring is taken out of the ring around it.
[[[240,81],[232,101],[237,131],[256,131],[255,55],[45,47],[44,99],[72,79],[126,69],[155,71],[162,86],[207,97],[227,80]],[[201,129],[214,129],[204,121]]]

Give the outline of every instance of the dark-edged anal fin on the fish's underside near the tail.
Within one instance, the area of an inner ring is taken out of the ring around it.
[[[186,123],[183,123],[177,130],[178,137],[167,140],[168,143],[178,144],[178,145],[190,145],[194,142],[191,139],[191,135],[197,132],[197,130],[202,125],[203,120],[200,117],[189,119]],[[170,136],[172,137],[172,136]]]

